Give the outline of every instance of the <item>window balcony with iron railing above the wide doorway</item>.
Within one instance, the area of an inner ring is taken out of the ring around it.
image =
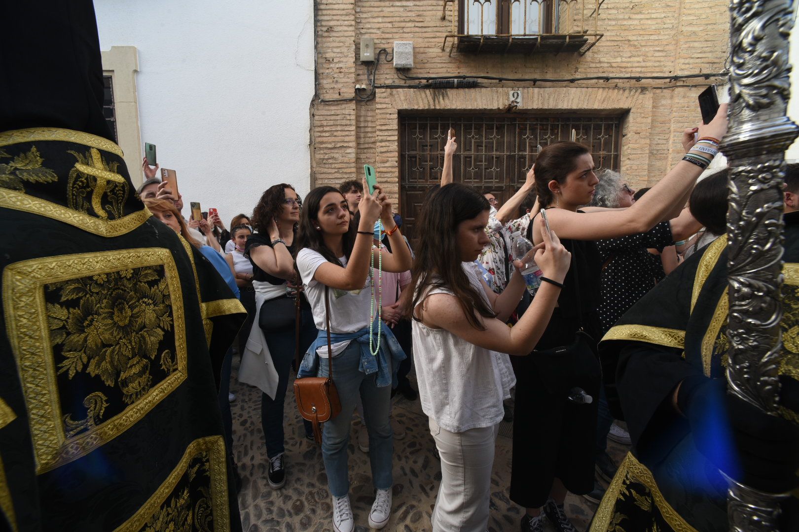
[[[579,53],[602,38],[605,0],[443,0],[451,4],[450,55],[459,53]]]

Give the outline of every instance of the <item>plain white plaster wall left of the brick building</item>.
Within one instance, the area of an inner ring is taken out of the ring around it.
[[[199,201],[227,226],[272,184],[308,192],[312,0],[95,0],[94,9],[102,50],[138,50],[141,141],[177,171],[187,218]]]

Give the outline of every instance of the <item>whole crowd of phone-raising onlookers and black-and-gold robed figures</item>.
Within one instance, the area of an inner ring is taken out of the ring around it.
[[[598,502],[590,530],[720,531],[725,478],[799,487],[799,167],[783,192],[785,349],[770,416],[725,380],[727,173],[698,181],[725,104],[683,132],[685,156],[641,191],[562,141],[502,203],[455,183],[450,138],[412,249],[366,179],[304,199],[278,183],[228,228],[214,211],[186,220],[147,160],[134,193],[102,116],[91,3],[59,4],[41,24],[34,36],[10,28],[14,52],[0,54],[2,75],[38,65],[0,100],[3,530],[240,530],[236,354],[238,379],[261,391],[274,489],[291,472],[292,367],[296,386],[324,383],[302,413],[336,532],[356,527],[356,412],[375,489],[368,525],[391,518],[395,393],[428,417],[435,532],[487,530],[510,417],[511,482],[499,489],[525,509],[523,532],[574,532],[569,492]],[[32,230],[46,245],[30,246]],[[631,445],[622,463],[609,437]],[[799,499],[781,508],[783,530],[799,530]]]

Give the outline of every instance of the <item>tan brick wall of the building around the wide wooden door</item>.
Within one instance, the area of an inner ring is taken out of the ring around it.
[[[457,2],[458,0],[455,0]],[[594,2],[586,0],[590,12]],[[729,48],[726,0],[606,0],[598,31],[604,36],[584,56],[559,54],[450,53],[452,4],[442,20],[442,0],[318,0],[316,10],[317,95],[352,97],[367,85],[358,61],[360,37],[374,37],[377,50],[394,41],[413,41],[409,76],[496,77],[673,76],[718,73]],[[587,14],[587,13],[586,13]],[[592,26],[593,28],[593,26]],[[377,85],[407,85],[385,54]],[[370,67],[372,66],[369,64]],[[398,117],[403,112],[464,110],[503,112],[508,89],[523,89],[526,112],[597,110],[623,116],[622,174],[635,186],[657,182],[682,156],[682,129],[700,120],[696,97],[704,77],[682,81],[577,81],[574,83],[482,82],[479,89],[377,89],[361,101],[311,104],[312,175],[316,185],[360,177],[375,164],[394,199],[399,190]],[[401,208],[401,207],[400,207]]]

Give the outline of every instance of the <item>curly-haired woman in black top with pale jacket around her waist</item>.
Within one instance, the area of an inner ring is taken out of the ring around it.
[[[256,315],[241,355],[239,380],[263,392],[260,416],[269,459],[268,482],[274,489],[286,482],[283,410],[296,349],[295,298],[300,298],[303,353],[316,338],[311,307],[294,285],[294,242],[301,207],[302,200],[290,184],[269,187],[252,211],[252,226],[258,232],[249,236],[244,248],[244,256],[252,262]],[[312,439],[308,425],[305,434]]]

